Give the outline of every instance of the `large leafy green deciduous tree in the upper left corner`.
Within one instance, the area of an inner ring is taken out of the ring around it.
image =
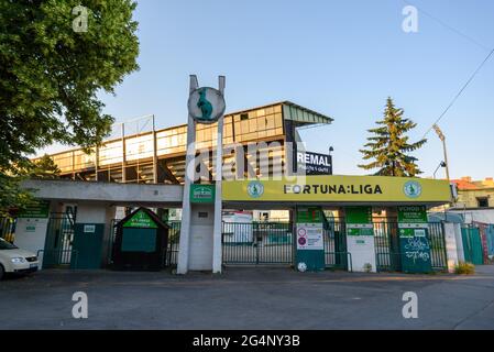
[[[0,0],[0,207],[23,199],[17,177],[36,148],[99,144],[113,118],[97,95],[139,69],[135,2],[84,4]]]

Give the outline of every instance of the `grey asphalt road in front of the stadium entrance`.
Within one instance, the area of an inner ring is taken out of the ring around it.
[[[85,292],[89,318],[72,318]],[[404,319],[402,295],[418,295]],[[494,329],[494,266],[474,276],[43,271],[0,282],[0,329]]]

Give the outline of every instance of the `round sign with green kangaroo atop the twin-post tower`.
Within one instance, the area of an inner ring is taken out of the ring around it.
[[[226,109],[223,95],[210,87],[194,90],[188,98],[187,107],[188,113],[200,123],[215,123]]]

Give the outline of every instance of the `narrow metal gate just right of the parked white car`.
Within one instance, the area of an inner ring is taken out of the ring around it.
[[[75,217],[72,212],[52,213],[43,252],[43,268],[69,265],[77,251],[73,250]]]

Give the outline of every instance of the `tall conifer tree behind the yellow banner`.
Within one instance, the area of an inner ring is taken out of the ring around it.
[[[421,174],[417,158],[409,153],[421,147],[427,140],[409,143],[405,135],[417,123],[403,118],[404,110],[395,108],[393,99],[387,98],[384,120],[377,121],[378,128],[367,130],[373,136],[367,138],[365,150],[360,150],[363,158],[373,162],[359,165],[364,169],[380,168],[375,175],[414,177]]]

